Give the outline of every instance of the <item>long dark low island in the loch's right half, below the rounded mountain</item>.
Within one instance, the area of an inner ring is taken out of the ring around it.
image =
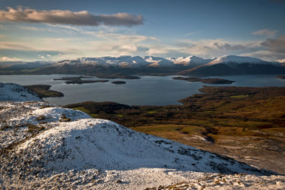
[[[196,77],[173,77],[174,80],[186,80],[188,82],[201,82],[207,84],[232,84],[235,81],[222,78],[196,78]]]

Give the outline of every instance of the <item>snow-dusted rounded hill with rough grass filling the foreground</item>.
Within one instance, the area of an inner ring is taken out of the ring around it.
[[[20,85],[12,89],[1,83],[1,88],[15,100],[21,97],[16,93]],[[28,100],[0,103],[1,188],[145,189],[209,177],[226,181],[208,183],[209,188],[285,186],[284,176],[271,171],[93,119],[78,110]],[[243,181],[236,183],[237,179]]]

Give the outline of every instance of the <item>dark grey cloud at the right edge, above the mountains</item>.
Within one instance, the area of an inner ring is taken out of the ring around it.
[[[264,46],[276,53],[285,53],[285,35],[279,36],[275,39],[267,39],[261,43],[261,46]]]

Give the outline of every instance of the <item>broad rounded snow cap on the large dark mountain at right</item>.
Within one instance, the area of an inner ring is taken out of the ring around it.
[[[261,60],[259,58],[251,58],[251,57],[243,57],[243,56],[222,56],[211,62],[207,63],[207,65],[214,65],[219,63],[254,63],[254,64],[269,64],[269,62],[265,60]]]

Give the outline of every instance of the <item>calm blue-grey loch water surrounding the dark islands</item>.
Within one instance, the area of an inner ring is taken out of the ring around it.
[[[126,81],[123,85],[108,83],[86,83],[82,85],[66,85],[62,80],[53,78],[72,77],[78,75],[0,75],[2,83],[18,83],[20,85],[52,85],[51,90],[57,90],[64,97],[48,97],[44,100],[57,105],[67,105],[76,102],[119,102],[127,105],[174,105],[177,100],[199,93],[204,83],[190,83],[183,80],[172,80],[172,76],[142,76],[138,80],[110,79]],[[236,83],[219,86],[285,86],[285,80],[275,75],[230,75],[211,78],[234,80]],[[90,79],[89,79],[90,80]],[[100,80],[94,77],[94,80]]]

